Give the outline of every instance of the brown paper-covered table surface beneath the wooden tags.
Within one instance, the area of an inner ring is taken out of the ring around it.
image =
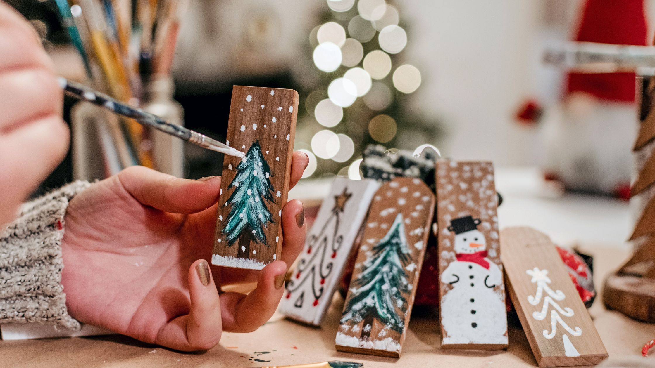
[[[595,282],[618,267],[628,253],[622,249],[583,249],[595,256]],[[417,308],[412,314],[400,359],[337,352],[337,332],[343,299],[335,301],[324,327],[284,319],[280,314],[253,333],[223,333],[219,346],[186,354],[143,344],[119,335],[63,339],[0,341],[0,367],[261,367],[329,360],[358,361],[364,367],[536,367],[536,361],[515,314],[510,314],[506,351],[441,350],[435,308]],[[655,325],[631,320],[606,310],[597,298],[589,310],[610,358],[637,356]],[[259,360],[257,360],[259,359]]]

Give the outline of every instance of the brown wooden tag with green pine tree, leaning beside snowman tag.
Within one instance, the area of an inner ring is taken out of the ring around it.
[[[425,255],[434,194],[397,177],[375,193],[346,295],[337,350],[398,358]]]

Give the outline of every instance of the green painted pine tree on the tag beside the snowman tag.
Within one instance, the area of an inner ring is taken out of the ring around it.
[[[341,316],[341,323],[364,320],[362,337],[370,336],[374,319],[402,332],[405,318],[398,310],[406,310],[404,295],[411,291],[405,273],[409,253],[403,216],[398,213],[391,229],[373,246],[371,256],[364,261],[364,272],[350,282],[352,297],[344,308],[346,312]]]

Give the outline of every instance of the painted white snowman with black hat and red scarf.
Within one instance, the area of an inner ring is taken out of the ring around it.
[[[441,273],[441,282],[453,288],[441,298],[441,327],[448,344],[506,344],[504,296],[494,287],[502,282],[500,268],[487,258],[487,240],[472,216],[451,221],[457,259]]]

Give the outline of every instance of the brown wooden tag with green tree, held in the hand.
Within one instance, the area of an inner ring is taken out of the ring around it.
[[[280,256],[298,93],[234,86],[227,144],[246,161],[225,156],[212,264],[259,270]]]

